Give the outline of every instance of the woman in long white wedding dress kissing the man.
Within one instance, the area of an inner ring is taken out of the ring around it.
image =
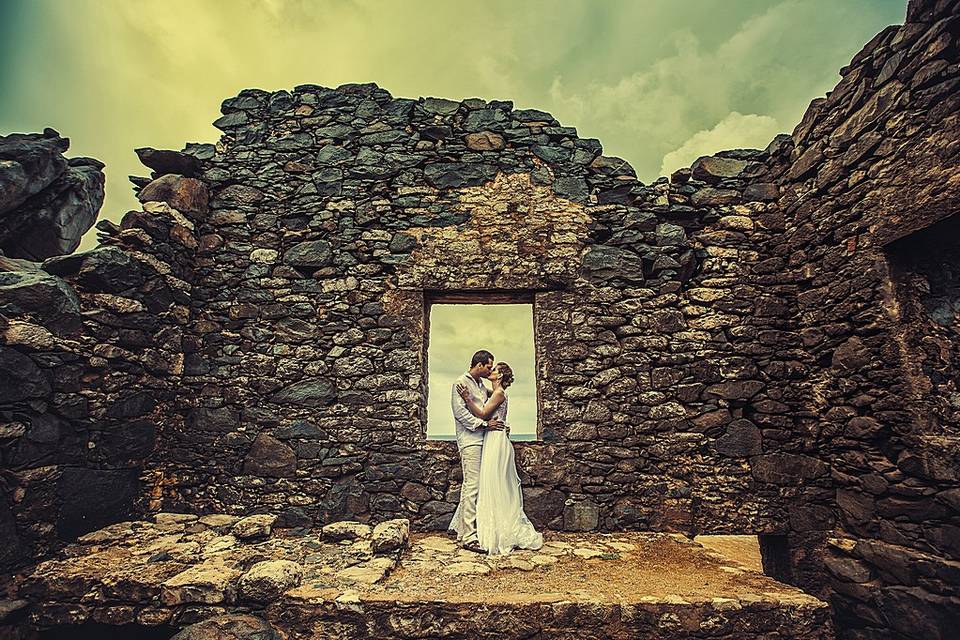
[[[513,456],[513,444],[507,437],[507,387],[513,382],[513,370],[500,362],[490,373],[493,393],[482,407],[466,387],[457,391],[470,413],[488,420],[498,418],[506,429],[487,431],[483,436],[480,458],[480,493],[477,496],[477,541],[489,555],[506,555],[513,549],[539,549],[543,534],[534,529],[523,512],[523,493]],[[466,530],[459,506],[450,522],[451,530],[462,536]]]

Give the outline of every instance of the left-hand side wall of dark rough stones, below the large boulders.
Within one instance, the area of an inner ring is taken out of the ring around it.
[[[193,183],[193,205],[164,198],[202,211]],[[143,462],[176,422],[191,227],[153,201],[101,222],[92,251],[0,258],[0,569],[134,513]]]

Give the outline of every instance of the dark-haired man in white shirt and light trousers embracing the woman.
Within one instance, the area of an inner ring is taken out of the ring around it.
[[[450,403],[457,428],[457,449],[460,451],[460,466],[463,468],[463,485],[460,488],[460,509],[466,531],[463,548],[483,553],[477,542],[477,493],[480,491],[480,451],[483,448],[484,430],[503,429],[503,422],[496,419],[483,420],[467,408],[467,403],[457,392],[457,385],[467,388],[473,400],[480,406],[487,401],[487,388],[482,379],[489,378],[493,371],[493,354],[477,351],[470,359],[470,370],[457,378],[451,389]]]

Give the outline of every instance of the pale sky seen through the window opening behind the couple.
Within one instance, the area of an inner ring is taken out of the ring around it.
[[[470,368],[470,359],[480,349],[491,352],[497,362],[506,362],[513,370],[514,381],[507,389],[510,437],[514,440],[535,438],[536,369],[533,306],[529,304],[431,305],[427,437],[454,435],[450,406],[452,385]]]

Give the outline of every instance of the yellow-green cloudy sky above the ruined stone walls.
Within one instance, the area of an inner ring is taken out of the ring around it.
[[[376,82],[554,114],[641,180],[789,132],[903,0],[0,0],[0,134],[53,127],[136,206],[135,147],[243,88]],[[81,250],[95,246],[91,230]]]

